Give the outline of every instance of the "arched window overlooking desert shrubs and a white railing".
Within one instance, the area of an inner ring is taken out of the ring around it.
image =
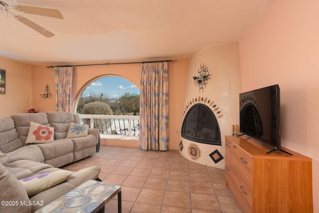
[[[83,124],[99,129],[101,137],[138,136],[140,89],[118,76],[96,79],[78,97],[76,113]]]

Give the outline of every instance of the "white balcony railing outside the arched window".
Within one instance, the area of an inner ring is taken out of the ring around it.
[[[82,124],[99,129],[101,138],[110,135],[137,138],[140,135],[140,116],[138,115],[78,115]]]

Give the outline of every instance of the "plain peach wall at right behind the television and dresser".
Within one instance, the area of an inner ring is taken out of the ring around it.
[[[319,1],[275,0],[239,41],[241,91],[281,88],[282,145],[313,159],[319,212]]]

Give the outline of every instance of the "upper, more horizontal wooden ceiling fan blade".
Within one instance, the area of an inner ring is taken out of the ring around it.
[[[16,10],[25,12],[25,13],[63,19],[63,15],[57,9],[49,9],[49,8],[37,7],[37,6],[27,6],[22,4],[15,4],[13,5],[13,7]]]

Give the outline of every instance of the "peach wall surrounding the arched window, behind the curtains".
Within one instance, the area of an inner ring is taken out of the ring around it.
[[[177,59],[177,62],[168,63],[169,73],[169,140],[170,149],[178,149],[180,118],[183,96],[181,91],[185,89],[185,76],[188,68],[188,58]],[[123,62],[123,61],[121,61]],[[112,63],[112,62],[110,62]],[[124,77],[140,88],[141,64],[111,64],[96,66],[78,66],[73,69],[73,96],[74,105],[76,98],[91,82],[99,77],[116,75]],[[44,92],[44,87],[49,84],[52,98],[43,99],[39,92]],[[45,66],[32,67],[32,89],[38,110],[41,112],[55,111],[55,88],[53,68]],[[138,147],[138,143],[132,140],[102,139],[101,144],[113,146]]]

